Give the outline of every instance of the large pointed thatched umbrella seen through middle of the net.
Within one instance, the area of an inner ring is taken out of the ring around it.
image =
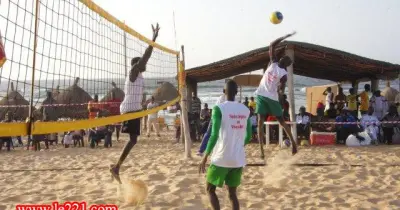
[[[65,90],[62,90],[54,97],[58,104],[65,104],[57,108],[58,117],[68,118],[87,118],[87,103],[92,97],[81,87],[78,86],[79,77],[75,79],[74,84]],[[70,106],[68,106],[71,104]],[[82,104],[82,105],[81,105]]]

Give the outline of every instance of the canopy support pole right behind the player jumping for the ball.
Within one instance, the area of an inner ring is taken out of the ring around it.
[[[290,113],[290,121],[296,121],[296,106],[294,103],[294,72],[293,72],[293,65],[294,65],[294,49],[288,48],[285,50],[287,56],[292,59],[292,65],[287,67],[288,78],[287,78],[287,85],[288,85],[288,94],[289,94],[289,113]],[[291,126],[292,128],[292,135],[295,142],[297,142],[297,129],[296,126]]]

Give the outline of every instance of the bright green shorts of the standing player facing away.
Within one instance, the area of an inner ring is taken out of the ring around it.
[[[224,168],[211,164],[207,169],[207,182],[217,187],[225,183],[228,187],[238,187],[243,168]]]

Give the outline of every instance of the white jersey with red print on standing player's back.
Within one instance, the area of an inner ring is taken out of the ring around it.
[[[226,101],[221,110],[221,129],[211,155],[211,163],[226,168],[246,165],[245,137],[250,110],[243,104]]]

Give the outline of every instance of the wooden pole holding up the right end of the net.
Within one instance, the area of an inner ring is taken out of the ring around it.
[[[180,65],[180,74],[181,76],[184,75],[183,71],[185,71],[185,49],[184,46],[182,45],[181,47],[182,50],[182,61]],[[184,80],[185,81],[185,80]],[[188,121],[188,109],[187,109],[187,93],[186,93],[186,85],[185,83],[181,85],[181,121],[183,127],[181,128],[184,132],[184,139],[185,139],[185,158],[191,158],[192,153],[191,153],[191,146],[192,146],[192,140],[190,138],[190,130],[189,130],[189,121]]]

